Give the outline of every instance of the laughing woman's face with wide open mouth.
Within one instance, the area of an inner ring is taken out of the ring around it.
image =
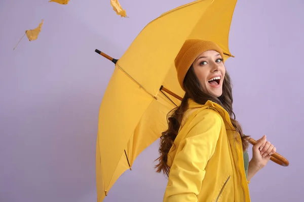
[[[219,97],[222,94],[222,85],[226,72],[220,54],[216,51],[206,51],[197,57],[193,67],[203,91]]]

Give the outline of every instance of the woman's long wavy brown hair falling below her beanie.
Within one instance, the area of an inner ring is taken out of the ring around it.
[[[196,103],[204,105],[208,100],[220,105],[223,109],[225,109],[230,115],[232,125],[241,135],[243,149],[246,150],[248,148],[248,141],[245,139],[248,136],[243,134],[243,130],[239,122],[235,119],[235,114],[232,109],[232,84],[230,80],[229,74],[226,72],[223,80],[222,86],[222,95],[220,97],[214,97],[209,94],[206,94],[202,91],[201,84],[194,72],[193,66],[191,66],[184,78],[183,81],[185,95],[181,101],[180,106],[173,109],[168,113],[168,129],[162,132],[159,154],[160,157],[157,159],[159,163],[155,166],[156,172],[163,173],[168,177],[170,167],[167,165],[168,153],[173,145],[175,137],[177,136],[179,127],[181,125],[181,121],[183,119],[183,115],[188,109],[187,100],[189,98],[193,99]],[[175,149],[175,148],[174,148]],[[155,160],[155,161],[157,161]]]

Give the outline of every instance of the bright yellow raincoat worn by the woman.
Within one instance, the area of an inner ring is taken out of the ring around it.
[[[188,101],[185,121],[170,149],[164,202],[249,202],[240,135],[219,105]],[[188,115],[187,115],[188,114]]]

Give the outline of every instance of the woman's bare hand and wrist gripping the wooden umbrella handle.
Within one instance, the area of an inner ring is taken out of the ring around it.
[[[271,155],[274,153],[276,153],[276,147],[267,141],[266,135],[257,140],[256,144],[252,147],[252,159],[248,167],[248,181],[267,165]]]

